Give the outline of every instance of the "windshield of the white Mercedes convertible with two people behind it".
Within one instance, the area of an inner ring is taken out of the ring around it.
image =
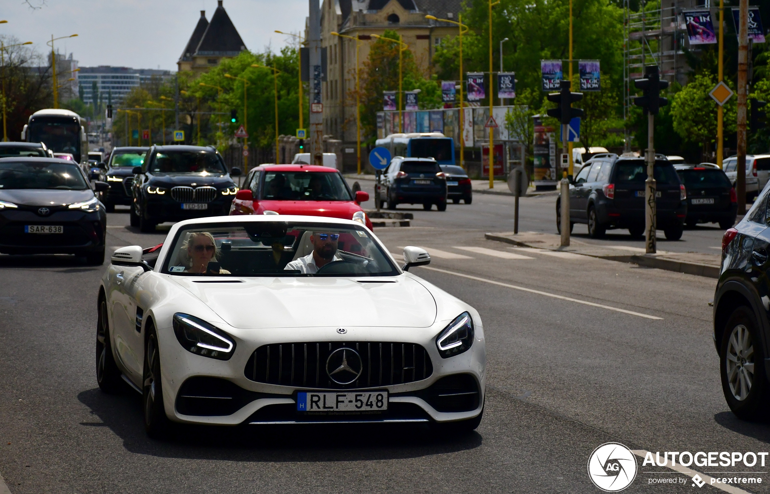
[[[362,227],[299,222],[182,229],[163,272],[171,275],[393,276],[387,252]]]

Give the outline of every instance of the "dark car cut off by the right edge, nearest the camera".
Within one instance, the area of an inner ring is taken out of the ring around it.
[[[766,419],[770,403],[770,188],[722,238],[714,294],[714,345],[728,406],[741,419]]]

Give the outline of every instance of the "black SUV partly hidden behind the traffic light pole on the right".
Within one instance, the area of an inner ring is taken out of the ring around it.
[[[666,239],[681,239],[687,215],[685,185],[674,165],[656,159],[656,221]],[[602,155],[591,159],[570,186],[570,231],[574,223],[588,224],[588,235],[598,238],[608,229],[628,229],[631,236],[644,235],[644,181],[647,163],[641,158]],[[561,200],[556,202],[556,225],[561,232]]]

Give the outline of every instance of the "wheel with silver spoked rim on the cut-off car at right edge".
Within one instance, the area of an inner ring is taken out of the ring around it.
[[[719,375],[728,406],[743,420],[761,419],[770,405],[759,325],[745,305],[730,315],[722,334]]]

